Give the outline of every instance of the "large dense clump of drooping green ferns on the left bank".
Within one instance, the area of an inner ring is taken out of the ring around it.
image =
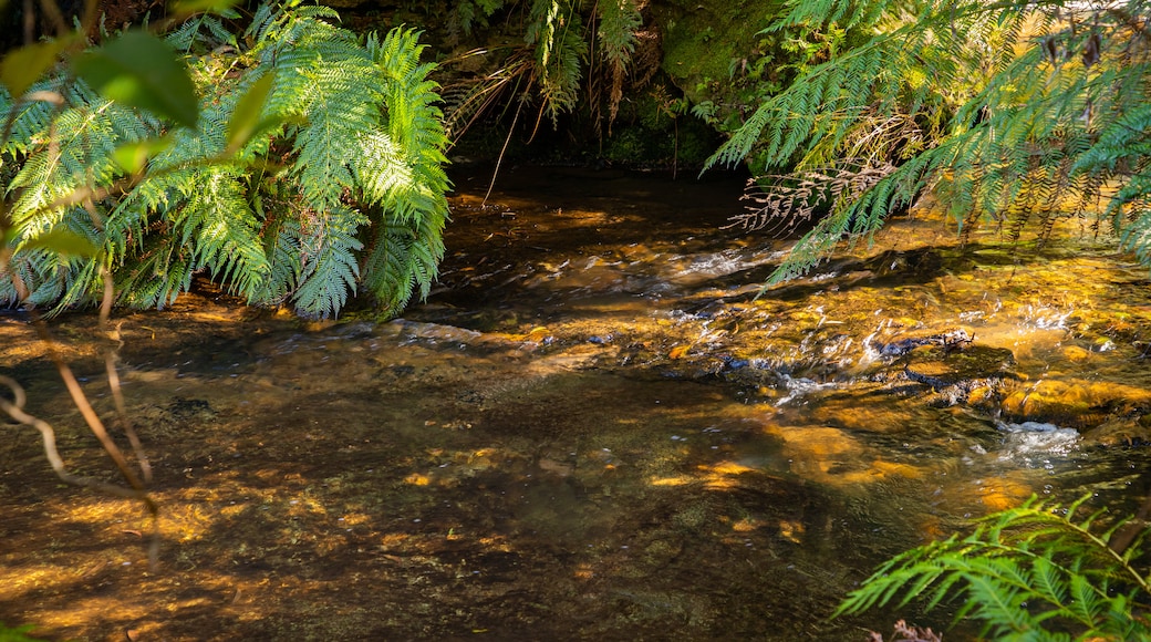
[[[79,79],[61,72],[32,86],[58,92],[59,105],[0,93],[10,123],[0,153],[14,173],[0,301],[20,300],[13,276],[26,304],[98,300],[101,267],[119,301],[137,307],[171,303],[198,273],[305,316],[336,314],[357,292],[390,314],[414,291],[427,296],[449,189],[432,66],[414,30],[360,39],[336,20],[326,7],[264,5],[243,38],[215,16],[189,20],[163,46],[189,70],[191,114],[167,92],[182,86],[170,69],[112,75],[98,64],[140,64],[143,33],[84,54]],[[124,77],[144,81],[117,93]],[[112,86],[113,99],[86,79]],[[37,242],[61,230],[98,251]]]

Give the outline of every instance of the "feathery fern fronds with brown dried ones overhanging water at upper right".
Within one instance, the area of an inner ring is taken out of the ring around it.
[[[709,160],[749,159],[769,193],[820,175],[882,171],[825,198],[745,222],[822,216],[772,281],[805,274],[844,235],[867,236],[932,190],[965,230],[990,221],[1039,240],[1060,217],[1105,205],[1097,222],[1146,261],[1146,0],[1092,5],[799,1],[769,31],[874,33],[806,68],[763,100]],[[779,175],[778,173],[783,173]],[[840,198],[841,197],[841,198]],[[752,226],[755,227],[755,226]]]

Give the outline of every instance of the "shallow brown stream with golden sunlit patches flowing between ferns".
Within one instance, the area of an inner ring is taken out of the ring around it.
[[[122,314],[161,566],[137,505],[59,484],[35,430],[3,427],[0,621],[863,640],[946,622],[826,619],[887,556],[1031,494],[1148,490],[1151,292],[1106,244],[960,247],[916,212],[756,298],[786,243],[721,229],[737,179],[516,169],[483,205],[487,178],[457,176],[441,286],[401,320],[307,324],[209,289]],[[109,412],[93,324],[55,323]],[[26,336],[0,320],[0,372],[113,480]]]

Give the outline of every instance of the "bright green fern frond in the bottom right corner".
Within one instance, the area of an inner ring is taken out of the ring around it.
[[[921,598],[928,610],[956,604],[955,620],[983,622],[991,640],[1151,640],[1146,526],[1120,520],[1102,529],[1104,511],[1076,521],[1085,499],[1060,507],[1032,497],[983,518],[967,537],[900,553],[836,614]],[[1129,527],[1137,536],[1113,549],[1108,542]]]

